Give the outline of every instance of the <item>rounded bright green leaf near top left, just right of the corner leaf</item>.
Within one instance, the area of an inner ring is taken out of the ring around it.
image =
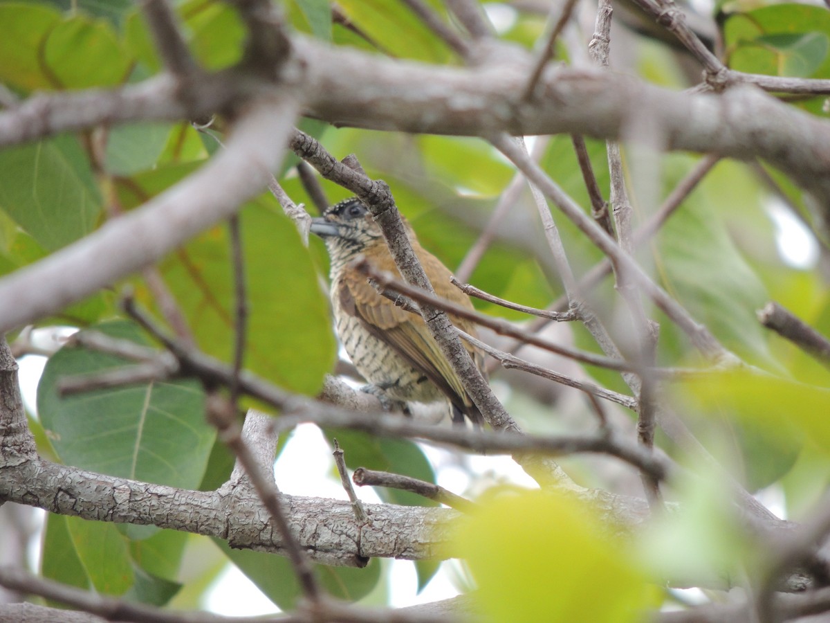
[[[77,16],[51,29],[43,63],[56,86],[85,89],[124,82],[132,59],[105,22]]]

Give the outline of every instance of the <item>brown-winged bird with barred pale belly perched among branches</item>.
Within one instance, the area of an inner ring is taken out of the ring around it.
[[[470,297],[450,282],[449,268],[418,243],[412,226],[402,219],[437,296],[472,310]],[[409,402],[446,400],[452,405],[453,424],[465,425],[466,416],[480,428],[481,411],[420,314],[383,297],[353,266],[363,255],[374,267],[400,278],[383,233],[363,202],[352,197],[334,204],[321,217],[311,219],[311,232],[323,238],[329,252],[334,324],[352,363],[369,382],[363,390],[378,396],[386,408],[399,406],[405,415],[411,415]],[[462,331],[476,335],[471,321],[452,314],[450,319]],[[484,374],[484,354],[466,342],[464,346]]]

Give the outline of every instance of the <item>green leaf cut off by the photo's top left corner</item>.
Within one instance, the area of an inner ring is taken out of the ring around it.
[[[0,81],[24,91],[56,86],[43,66],[41,47],[61,22],[60,13],[37,4],[0,4]]]

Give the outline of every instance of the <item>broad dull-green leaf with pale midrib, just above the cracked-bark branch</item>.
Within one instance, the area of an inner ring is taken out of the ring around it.
[[[145,344],[126,321],[94,327]],[[61,460],[112,476],[196,488],[216,431],[204,421],[204,396],[191,380],[128,385],[61,399],[65,375],[116,370],[127,362],[81,348],[63,348],[46,363],[37,409]]]

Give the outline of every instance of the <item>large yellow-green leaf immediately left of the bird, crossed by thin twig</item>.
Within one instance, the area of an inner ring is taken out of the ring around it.
[[[122,204],[131,207],[153,197],[193,167],[159,167],[135,176],[119,187]],[[263,196],[241,213],[248,303],[245,367],[286,389],[315,394],[334,363],[329,302],[294,223],[275,204],[270,195]],[[227,226],[193,238],[164,258],[160,268],[198,345],[231,361],[236,303]],[[137,295],[152,303],[143,287]]]

